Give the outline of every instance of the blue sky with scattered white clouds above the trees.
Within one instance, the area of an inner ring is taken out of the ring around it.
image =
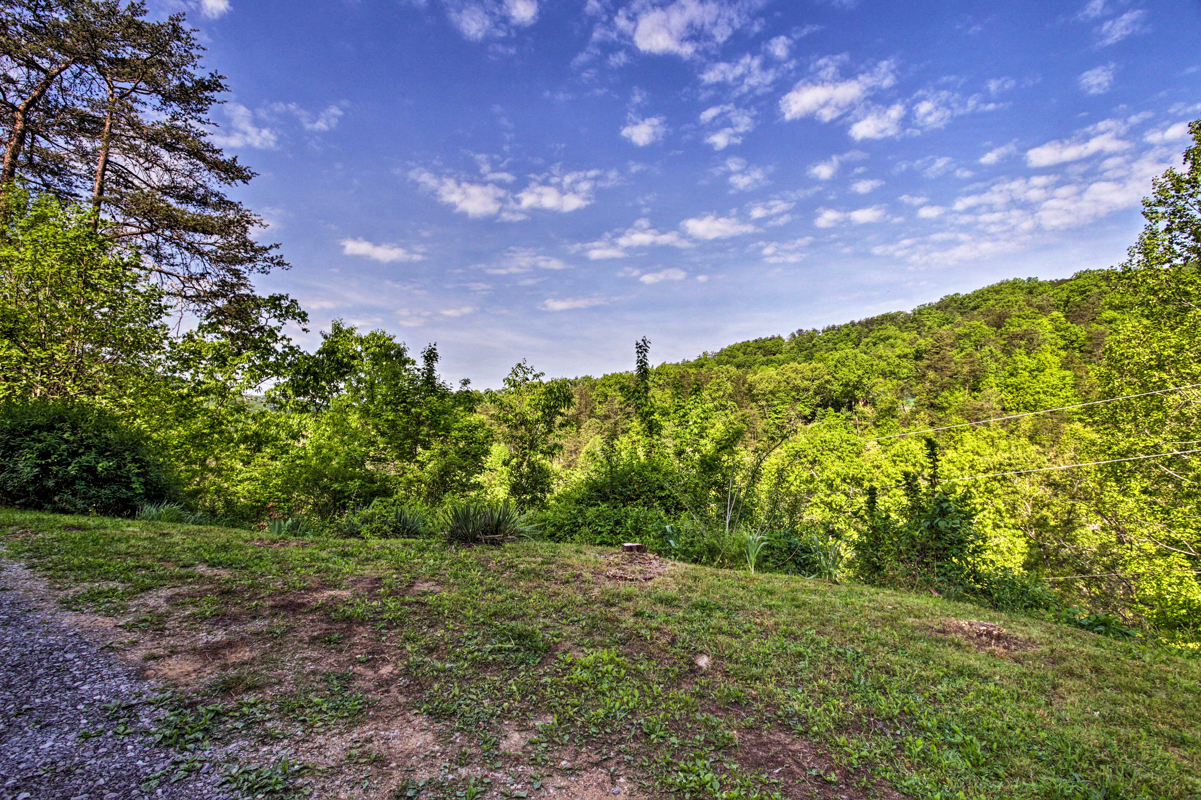
[[[1196,0],[171,8],[293,264],[262,288],[477,386],[1116,264],[1201,118]]]

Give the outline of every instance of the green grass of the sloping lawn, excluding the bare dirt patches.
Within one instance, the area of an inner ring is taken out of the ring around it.
[[[0,511],[0,533],[68,604],[119,614],[184,585],[192,625],[249,622],[269,599],[377,577],[319,613],[395,649],[412,709],[489,765],[516,763],[502,724],[537,717],[527,770],[591,748],[680,798],[1201,796],[1201,661],[938,597],[688,565],[617,583],[597,558],[608,549],[540,542],[269,547],[243,530],[16,511]],[[1017,646],[984,649],[955,620],[998,624]],[[262,639],[288,636],[276,625]],[[371,698],[325,680],[279,708],[355,724]],[[791,742],[809,769],[773,771],[767,741]],[[456,796],[446,771],[424,788]]]

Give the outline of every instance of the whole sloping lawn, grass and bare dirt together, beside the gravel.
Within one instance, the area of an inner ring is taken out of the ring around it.
[[[265,796],[1201,796],[1201,661],[938,597],[542,542],[0,534],[175,686],[184,751],[261,745]]]

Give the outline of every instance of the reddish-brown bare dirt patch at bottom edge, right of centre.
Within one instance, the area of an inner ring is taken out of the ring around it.
[[[739,730],[739,764],[747,771],[761,772],[770,780],[779,781],[776,788],[790,800],[848,800],[867,796],[861,789],[852,788],[852,781],[865,775],[837,766],[819,747],[783,730]],[[871,796],[904,800],[903,794],[885,783],[872,782],[874,786]]]

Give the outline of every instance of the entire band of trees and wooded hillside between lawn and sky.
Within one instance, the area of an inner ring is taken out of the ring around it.
[[[183,18],[2,13],[0,503],[295,535],[515,519],[1196,639],[1201,124],[1118,267],[477,391],[434,344],[285,335],[306,315],[255,290],[286,264],[227,196],[252,173],[208,138],[225,86]]]

